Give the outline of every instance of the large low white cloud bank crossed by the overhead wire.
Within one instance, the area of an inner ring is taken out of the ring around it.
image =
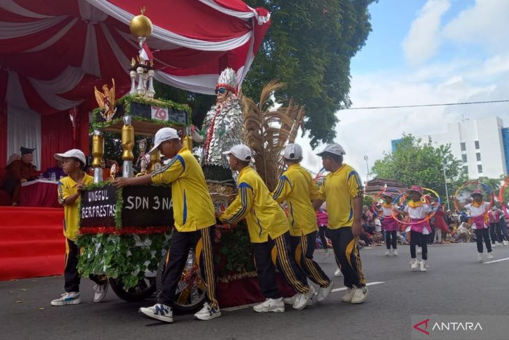
[[[415,105],[427,103],[459,103],[464,101],[489,101],[508,99],[509,71],[497,73],[493,82],[484,83],[483,75],[473,75],[471,67],[484,68],[485,62],[466,63],[464,68],[450,68],[440,77],[416,81],[416,74],[430,73],[438,66],[422,66],[413,73],[388,70],[371,75],[352,75],[351,99],[353,107],[390,105]],[[338,112],[340,123],[336,131],[339,142],[347,152],[345,162],[354,166],[360,177],[366,178],[366,163],[369,166],[390,152],[390,141],[401,138],[403,133],[427,135],[445,132],[448,123],[462,117],[476,119],[486,116],[501,117],[509,126],[509,103],[486,105],[455,105],[428,108],[401,108],[381,110],[344,110]],[[317,172],[321,159],[316,156],[323,146],[312,150],[309,138],[298,138],[303,146],[303,165]]]

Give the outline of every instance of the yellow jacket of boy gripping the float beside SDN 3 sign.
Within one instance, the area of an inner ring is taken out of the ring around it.
[[[175,228],[190,232],[215,225],[211,195],[202,168],[187,147],[152,173],[153,184],[172,184]]]

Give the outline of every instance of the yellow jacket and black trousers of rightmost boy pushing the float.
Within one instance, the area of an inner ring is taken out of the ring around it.
[[[344,276],[344,286],[365,286],[360,261],[358,237],[351,232],[354,223],[354,198],[362,197],[363,185],[358,173],[347,164],[325,177],[319,189],[321,200],[327,202],[327,237],[333,243],[336,263]]]

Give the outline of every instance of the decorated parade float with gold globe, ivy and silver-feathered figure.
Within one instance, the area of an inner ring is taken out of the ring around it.
[[[193,140],[197,142],[195,154],[202,163],[215,209],[220,210],[236,195],[234,174],[222,151],[238,143],[252,147],[257,170],[269,189],[273,189],[282,171],[280,152],[296,138],[304,110],[293,101],[287,106],[273,107],[269,97],[283,86],[278,82],[268,84],[259,103],[254,103],[237,93],[236,73],[226,68],[219,75],[218,88],[228,91],[224,96],[218,94],[218,103],[206,114],[200,130],[191,124],[188,105],[154,98],[153,65],[143,52],[151,24],[143,13],[132,20],[131,31],[141,50],[129,68],[128,95],[115,101],[114,80],[111,87],[95,89],[99,108],[93,110],[90,124],[94,183],[82,192],[77,244],[82,247],[79,271],[83,275],[105,274],[121,299],[139,301],[155,293],[165,270],[165,253],[173,226],[171,190],[155,185],[123,189],[112,186],[116,167],[112,167],[107,178],[103,178],[101,168],[105,156],[104,132],[121,135],[123,177],[144,175],[162,166],[159,154],[151,154],[150,158],[145,154],[148,141],[159,128],[176,128],[183,145],[189,149],[193,149]],[[146,138],[135,145],[135,135]],[[190,251],[178,283],[174,308],[181,311],[199,309],[205,298],[195,256],[199,246],[200,243]],[[213,253],[221,306],[263,300],[245,223],[215,226]],[[284,295],[293,295],[281,278],[278,284]]]

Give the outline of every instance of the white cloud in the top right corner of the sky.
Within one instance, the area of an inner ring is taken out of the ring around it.
[[[443,36],[460,43],[487,45],[492,50],[507,51],[509,1],[477,0],[443,29]]]

